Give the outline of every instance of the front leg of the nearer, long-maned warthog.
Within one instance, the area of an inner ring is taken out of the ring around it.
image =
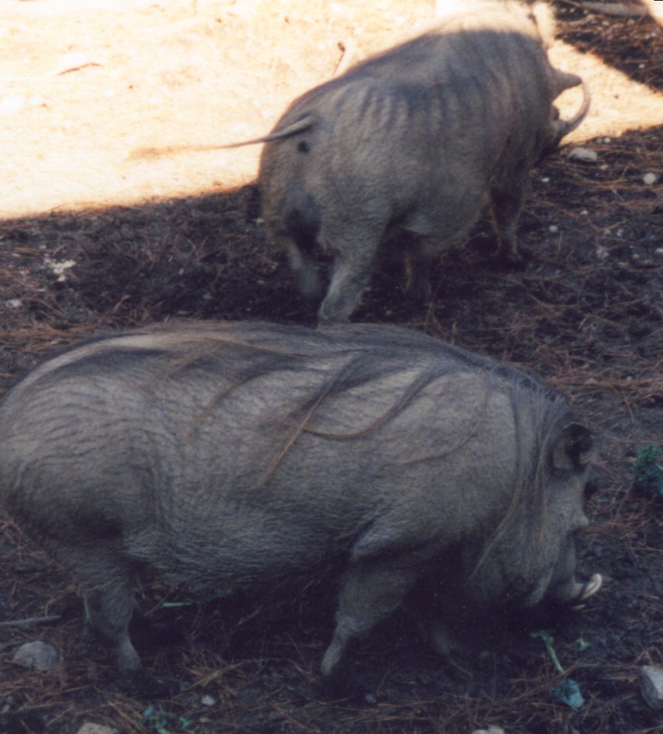
[[[348,644],[370,632],[400,604],[417,576],[410,568],[360,564],[343,576],[336,628],[323,656],[320,672],[337,677]]]

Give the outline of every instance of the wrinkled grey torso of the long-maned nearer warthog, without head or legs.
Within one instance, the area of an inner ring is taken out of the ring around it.
[[[409,546],[420,561],[491,533],[557,407],[529,377],[395,328],[139,333],[9,393],[0,499],[56,554],[115,539],[199,586]]]

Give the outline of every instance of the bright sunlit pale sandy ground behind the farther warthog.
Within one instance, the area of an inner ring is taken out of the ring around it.
[[[176,149],[266,134],[293,98],[430,22],[434,7],[433,0],[3,0],[0,217],[248,183],[260,146]],[[592,92],[590,114],[571,139],[663,122],[663,95],[563,43],[550,55]],[[578,100],[578,90],[567,92],[563,115]]]

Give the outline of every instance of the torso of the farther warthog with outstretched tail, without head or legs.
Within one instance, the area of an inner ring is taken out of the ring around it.
[[[452,18],[290,106],[272,135],[311,126],[265,144],[265,222],[276,234],[322,228],[332,250],[329,232],[348,216],[462,236],[491,187],[512,188],[538,159],[556,95],[522,10]]]

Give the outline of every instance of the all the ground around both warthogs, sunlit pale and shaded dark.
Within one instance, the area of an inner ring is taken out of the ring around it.
[[[553,625],[564,672],[525,622],[475,658],[443,663],[404,608],[357,650],[356,692],[329,700],[317,672],[329,589],[256,609],[235,597],[188,604],[151,586],[142,608],[180,636],[142,654],[180,692],[147,702],[118,683],[70,578],[0,516],[0,731],[74,734],[84,722],[166,734],[660,730],[637,674],[663,666],[662,505],[631,485],[637,452],[663,442],[663,32],[651,18],[553,4],[551,57],[581,74],[593,98],[571,147],[597,161],[569,159],[567,148],[534,171],[523,269],[494,268],[482,221],[436,261],[428,308],[403,298],[400,273],[381,273],[355,320],[538,371],[601,437],[579,573],[602,573],[604,589]],[[252,186],[259,146],[194,148],[264,134],[294,96],[433,10],[424,0],[6,2],[0,389],[51,350],[120,327],[314,324],[315,308],[265,241]],[[578,103],[576,91],[567,96],[563,114]],[[15,624],[51,615],[59,619]],[[34,639],[62,656],[54,672],[11,663]],[[585,697],[579,711],[552,700],[566,678]]]

